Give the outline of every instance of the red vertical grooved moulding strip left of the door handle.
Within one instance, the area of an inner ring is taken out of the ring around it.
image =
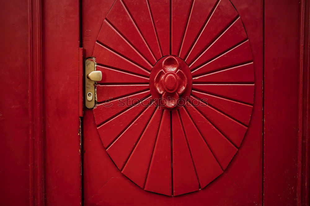
[[[41,0],[28,0],[29,205],[38,206],[44,205],[41,14]]]

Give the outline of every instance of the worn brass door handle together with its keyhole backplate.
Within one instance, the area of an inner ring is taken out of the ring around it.
[[[95,106],[95,81],[102,79],[101,71],[95,71],[95,60],[85,61],[85,105],[91,109]]]

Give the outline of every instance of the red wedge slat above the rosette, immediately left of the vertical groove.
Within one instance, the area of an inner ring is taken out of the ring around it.
[[[162,56],[170,54],[170,0],[148,0]],[[153,40],[154,41],[154,40]]]

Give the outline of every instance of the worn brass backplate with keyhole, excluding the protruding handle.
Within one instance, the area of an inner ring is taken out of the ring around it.
[[[95,106],[95,82],[87,78],[87,75],[95,71],[95,60],[86,59],[85,61],[85,105],[91,109]],[[91,97],[89,97],[91,93]]]

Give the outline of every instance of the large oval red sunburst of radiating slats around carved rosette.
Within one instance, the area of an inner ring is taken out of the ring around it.
[[[175,196],[224,172],[254,99],[249,40],[229,0],[116,0],[93,56],[95,123],[126,177]]]

